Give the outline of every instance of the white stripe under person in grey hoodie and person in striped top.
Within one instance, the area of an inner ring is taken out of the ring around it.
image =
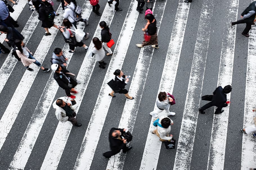
[[[158,93],[160,91],[172,93],[173,91],[178,69],[179,57],[181,53],[181,47],[183,44],[183,38],[188,19],[188,11],[189,4],[184,3],[182,0],[180,0],[178,3],[176,17],[174,19],[174,24],[172,27],[172,34],[167,50],[167,55],[163,68],[164,71],[162,73]],[[154,118],[152,117],[151,122],[153,121],[153,119]],[[156,135],[153,135],[151,133],[152,130],[154,130],[154,126],[150,124],[140,170],[156,169],[157,166],[162,143],[159,141]]]

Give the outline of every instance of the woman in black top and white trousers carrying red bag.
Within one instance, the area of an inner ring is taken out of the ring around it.
[[[106,53],[106,56],[113,55],[113,52],[111,49],[107,46],[107,43],[111,40],[111,33],[109,32],[109,27],[107,26],[105,21],[100,22],[100,28],[101,30],[101,41],[102,45],[105,47],[108,53]]]

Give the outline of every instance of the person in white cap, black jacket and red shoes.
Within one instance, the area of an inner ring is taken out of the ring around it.
[[[81,83],[81,81],[76,80],[75,75],[72,73],[69,73],[66,69],[62,70],[62,67],[58,64],[52,64],[51,69],[52,71],[55,71],[54,79],[57,81],[59,87],[65,90],[67,97],[70,97],[71,99],[75,99],[76,96],[70,93],[74,93],[74,94],[78,93],[78,91],[76,91],[74,87],[78,83]]]

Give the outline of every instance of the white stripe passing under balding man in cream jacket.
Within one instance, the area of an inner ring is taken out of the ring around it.
[[[92,9],[91,4],[89,1],[86,1],[86,6],[89,9]],[[101,21],[105,21],[108,25],[111,24],[112,19],[114,17],[113,8],[109,7],[108,4],[106,4],[105,9],[102,13],[102,16],[100,18]],[[97,27],[95,34],[93,37],[100,37],[101,36],[101,28]],[[93,43],[91,42],[90,46],[92,46]],[[89,54],[89,53],[88,53]],[[78,89],[79,93],[76,96],[77,104],[75,105],[76,112],[78,113],[78,110],[80,108],[80,104],[82,102],[83,96],[86,92],[87,85],[89,83],[89,80],[91,78],[93,68],[96,64],[96,61],[94,59],[87,59],[87,53],[84,58],[84,61],[82,63],[82,66],[80,67],[79,73],[77,75],[77,79],[80,79],[82,81],[81,84],[78,84],[76,88]],[[79,120],[78,120],[79,122]],[[68,140],[69,133],[72,129],[72,124],[62,124],[59,122],[57,125],[57,128],[55,130],[55,133],[53,135],[53,138],[51,140],[51,144],[48,148],[48,151],[46,153],[46,156],[44,158],[44,162],[41,166],[41,169],[57,169],[61,155],[64,151],[66,142]]]

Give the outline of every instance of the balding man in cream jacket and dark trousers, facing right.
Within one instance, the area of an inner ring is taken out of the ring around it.
[[[82,124],[77,123],[77,119],[75,118],[77,114],[72,107],[73,101],[75,100],[68,100],[68,97],[60,97],[53,102],[52,106],[55,108],[55,116],[60,122],[65,123],[69,121],[74,126],[80,127]]]

